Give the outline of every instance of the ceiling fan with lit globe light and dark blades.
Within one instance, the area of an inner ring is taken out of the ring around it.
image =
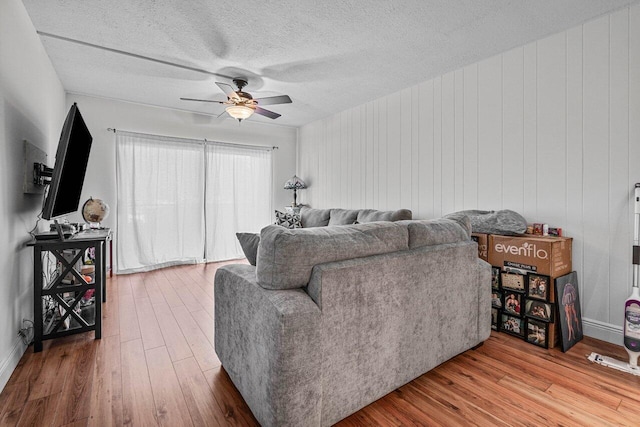
[[[277,119],[280,114],[273,111],[265,110],[260,107],[261,105],[275,105],[275,104],[290,104],[291,98],[288,95],[270,96],[267,98],[253,99],[250,93],[243,92],[242,88],[247,85],[247,80],[242,77],[233,79],[233,83],[238,87],[238,90],[233,90],[233,87],[227,83],[216,82],[216,85],[227,95],[226,101],[216,101],[211,99],[194,99],[194,98],[180,98],[183,101],[197,101],[197,102],[213,102],[216,104],[226,105],[225,111],[234,119],[238,119],[241,122],[244,119],[248,119],[253,113],[260,114],[261,116],[269,117],[270,119]],[[224,113],[223,113],[224,114]]]

